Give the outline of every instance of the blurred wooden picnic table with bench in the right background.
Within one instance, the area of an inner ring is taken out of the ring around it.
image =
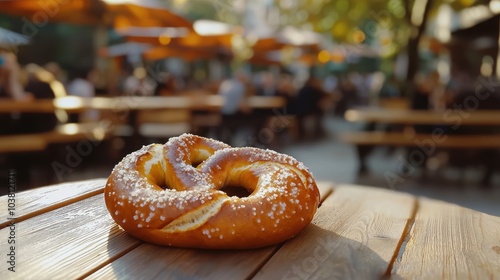
[[[453,135],[444,133],[441,126],[455,131],[463,126],[490,127],[486,131],[495,131],[500,125],[499,110],[445,110],[442,112],[409,110],[409,109],[384,109],[384,108],[362,108],[352,109],[345,113],[345,119],[350,122],[365,123],[368,126],[365,131],[342,132],[339,139],[342,142],[357,146],[360,162],[359,171],[365,172],[366,157],[375,146],[401,146],[420,149],[419,155],[425,159],[434,154],[435,148],[478,150],[481,153],[485,149],[500,149],[500,134],[475,134],[475,135]],[[402,132],[373,131],[378,124],[391,124],[404,127]],[[433,134],[416,134],[415,126],[435,127]],[[435,133],[435,134],[434,134]],[[485,132],[488,133],[488,132]],[[409,153],[415,151],[410,150]],[[432,152],[429,152],[429,149]],[[415,153],[415,152],[413,152]],[[485,160],[481,163],[486,166],[483,184],[489,184],[491,175],[495,169],[494,160],[490,154],[484,153]],[[494,155],[494,154],[493,154]]]

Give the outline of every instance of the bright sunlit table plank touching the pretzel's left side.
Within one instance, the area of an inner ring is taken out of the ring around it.
[[[9,236],[11,229],[0,230]],[[0,279],[84,277],[140,244],[111,219],[102,194],[15,225],[15,274],[0,266]],[[7,238],[0,248],[9,248]]]

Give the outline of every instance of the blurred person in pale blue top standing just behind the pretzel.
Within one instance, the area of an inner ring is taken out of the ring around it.
[[[225,143],[231,141],[231,132],[240,127],[241,120],[247,118],[251,112],[245,103],[247,82],[247,74],[239,70],[219,86],[218,94],[224,97],[224,104],[221,108],[222,121],[217,129],[217,137]]]

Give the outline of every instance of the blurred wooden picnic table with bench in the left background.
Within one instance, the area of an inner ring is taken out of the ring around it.
[[[286,100],[282,97],[263,97],[251,96],[247,99],[248,106],[256,111],[271,112],[271,110],[282,108],[286,104]],[[156,122],[165,121],[162,118],[162,113],[171,113],[175,115],[174,119],[179,119],[182,115],[188,115],[191,124],[196,125],[200,121],[205,124],[207,122],[216,122],[218,118],[213,121],[213,116],[202,115],[197,118],[191,116],[194,111],[206,111],[218,114],[224,98],[218,95],[186,95],[186,96],[121,96],[121,97],[77,97],[65,96],[55,99],[41,99],[36,101],[19,101],[12,99],[0,99],[0,113],[54,113],[57,110],[64,110],[68,113],[81,113],[86,110],[100,110],[108,113],[107,118],[93,124],[87,123],[84,125],[78,124],[78,130],[87,133],[78,133],[79,139],[75,135],[68,135],[63,129],[67,125],[57,127],[54,131],[48,133],[30,133],[22,135],[7,135],[0,137],[0,152],[20,152],[20,151],[40,151],[54,142],[65,142],[72,139],[87,140],[88,135],[92,131],[101,131],[103,128],[109,130],[119,130],[122,128],[125,134],[131,135],[132,139],[129,141],[133,149],[140,147],[143,143],[141,140],[140,116],[152,116]],[[180,112],[187,112],[181,114]],[[144,114],[140,114],[144,113]],[[201,118],[201,120],[200,120]],[[151,119],[151,117],[150,117]],[[121,123],[114,123],[115,121],[126,121],[128,127],[121,126]],[[187,123],[188,126],[190,123]],[[72,125],[75,127],[77,125]],[[123,129],[127,128],[127,129]],[[156,129],[156,128],[154,128]],[[187,128],[189,130],[189,127]],[[113,131],[106,131],[113,132]],[[183,131],[187,132],[187,131]],[[117,132],[118,133],[118,132]],[[47,137],[47,134],[49,137]],[[112,133],[110,133],[111,135]],[[118,133],[120,134],[120,133]],[[174,134],[179,134],[177,131]],[[57,136],[57,137],[55,137]],[[57,139],[57,141],[52,141]]]

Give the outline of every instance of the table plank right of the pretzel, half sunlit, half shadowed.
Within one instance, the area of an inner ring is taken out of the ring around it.
[[[254,279],[380,279],[414,207],[410,195],[339,186],[312,225],[285,243]]]

